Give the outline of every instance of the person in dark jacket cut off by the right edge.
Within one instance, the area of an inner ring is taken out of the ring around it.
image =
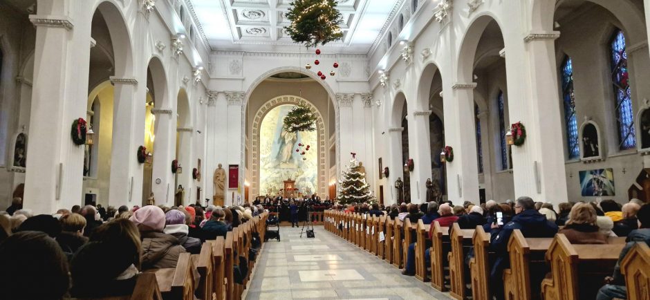
[[[637,218],[639,229],[634,229],[628,234],[625,247],[623,247],[618,262],[614,267],[614,272],[611,277],[605,279],[608,284],[600,288],[596,300],[626,299],[627,290],[620,265],[635,243],[650,245],[650,205],[643,205],[637,213]]]

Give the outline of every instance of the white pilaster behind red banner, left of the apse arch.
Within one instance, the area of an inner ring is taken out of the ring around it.
[[[226,176],[226,195],[224,199],[225,205],[232,205],[237,203],[237,197],[239,196],[237,187],[240,187],[239,193],[241,193],[241,203],[244,203],[244,153],[243,152],[243,142],[244,142],[244,133],[245,131],[241,127],[242,120],[242,111],[241,104],[243,103],[245,93],[243,92],[226,92],[225,99],[228,101],[228,164],[223,165],[225,169]],[[234,188],[230,189],[230,170],[229,165],[239,165],[239,182],[233,184]],[[234,193],[234,196],[233,196]]]

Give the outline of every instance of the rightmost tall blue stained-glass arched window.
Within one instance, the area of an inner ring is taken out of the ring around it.
[[[627,52],[623,31],[617,29],[611,41],[612,84],[616,97],[616,122],[618,123],[618,147],[620,150],[636,147],[632,94],[627,69]]]

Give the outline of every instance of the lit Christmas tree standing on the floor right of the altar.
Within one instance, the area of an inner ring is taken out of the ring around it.
[[[342,179],[339,180],[339,203],[375,202],[375,197],[370,192],[370,185],[366,182],[366,174],[360,172],[360,169],[359,161],[353,156],[347,169],[343,171]]]

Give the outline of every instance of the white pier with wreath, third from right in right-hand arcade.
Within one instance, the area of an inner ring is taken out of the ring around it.
[[[431,178],[431,143],[429,142],[431,111],[414,111],[409,118],[409,156],[414,160],[411,171],[411,203],[427,200],[425,182]]]

